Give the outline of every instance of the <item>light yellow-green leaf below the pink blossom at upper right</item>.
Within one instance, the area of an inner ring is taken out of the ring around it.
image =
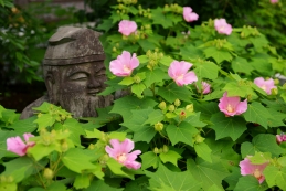
[[[206,47],[205,50],[203,50],[203,53],[206,57],[214,59],[218,64],[223,61],[232,60],[232,54],[229,51],[218,50],[216,47]]]

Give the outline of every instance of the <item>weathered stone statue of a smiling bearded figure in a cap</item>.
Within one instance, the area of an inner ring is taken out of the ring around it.
[[[20,118],[34,114],[43,102],[61,106],[75,118],[96,117],[95,108],[112,105],[114,96],[98,96],[105,88],[105,54],[100,33],[86,28],[64,26],[49,40],[43,60],[47,95],[27,106]]]

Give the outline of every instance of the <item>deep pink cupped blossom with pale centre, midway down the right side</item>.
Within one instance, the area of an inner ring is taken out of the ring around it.
[[[241,102],[239,96],[227,97],[227,92],[220,98],[219,108],[226,117],[241,115],[247,110],[247,99]]]

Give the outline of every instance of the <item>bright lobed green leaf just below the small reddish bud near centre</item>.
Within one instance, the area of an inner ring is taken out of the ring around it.
[[[166,129],[172,146],[178,142],[184,142],[189,146],[193,146],[192,136],[198,134],[199,130],[189,123],[182,121],[177,127],[176,125],[169,125]]]

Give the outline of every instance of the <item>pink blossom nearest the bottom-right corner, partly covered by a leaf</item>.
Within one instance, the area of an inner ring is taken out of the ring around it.
[[[250,157],[250,156],[248,156]],[[254,176],[259,183],[262,183],[265,179],[263,171],[267,167],[269,162],[265,162],[262,165],[253,165],[251,160],[246,157],[243,161],[240,162],[241,174],[242,176]]]

